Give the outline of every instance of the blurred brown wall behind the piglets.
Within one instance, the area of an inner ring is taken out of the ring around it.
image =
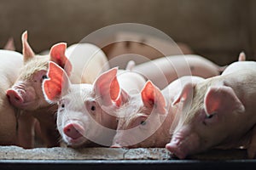
[[[14,37],[21,51],[20,36],[27,30],[40,53],[56,42],[73,44],[104,26],[129,22],[153,26],[191,53],[226,65],[241,51],[256,59],[255,7],[253,0],[0,0],[0,47]]]

